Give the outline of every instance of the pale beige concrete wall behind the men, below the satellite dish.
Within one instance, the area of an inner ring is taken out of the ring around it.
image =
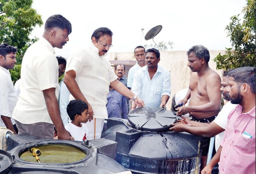
[[[209,67],[222,77],[222,70],[216,70],[216,63],[213,62],[213,59],[220,52],[221,54],[224,54],[225,50],[209,50],[209,52]],[[136,60],[133,55],[133,52],[110,53],[109,60]],[[190,69],[187,66],[187,51],[160,51],[160,59],[161,60],[158,65],[168,70],[171,74],[171,98],[166,105],[166,108],[170,110],[173,95],[184,88],[188,88],[189,86]]]

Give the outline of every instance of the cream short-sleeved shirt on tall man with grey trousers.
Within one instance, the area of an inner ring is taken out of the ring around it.
[[[13,118],[23,124],[53,124],[46,108],[43,90],[55,88],[59,95],[59,66],[52,45],[43,37],[26,51],[21,67],[20,94]]]

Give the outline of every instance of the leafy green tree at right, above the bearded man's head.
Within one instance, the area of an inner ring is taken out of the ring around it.
[[[214,58],[217,69],[255,67],[255,0],[247,0],[242,13],[244,13],[243,22],[238,14],[231,17],[231,22],[225,28],[228,30],[232,48],[226,48],[224,55],[219,53]]]

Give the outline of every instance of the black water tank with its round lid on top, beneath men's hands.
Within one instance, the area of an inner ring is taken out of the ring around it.
[[[116,160],[135,173],[199,174],[201,137],[169,132],[175,115],[158,107],[141,107],[129,121],[110,118],[102,138],[116,141]]]

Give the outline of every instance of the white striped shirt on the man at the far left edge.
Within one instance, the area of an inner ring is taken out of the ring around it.
[[[9,71],[0,66],[0,115],[10,117],[12,119],[13,109],[17,103],[18,95],[13,86]],[[0,117],[0,127],[6,127]]]

